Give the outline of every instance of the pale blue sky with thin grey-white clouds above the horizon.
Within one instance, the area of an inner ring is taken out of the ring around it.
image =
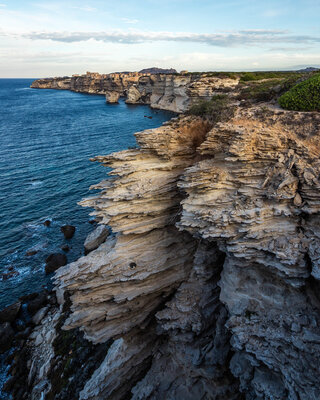
[[[320,0],[0,0],[0,77],[320,66]]]

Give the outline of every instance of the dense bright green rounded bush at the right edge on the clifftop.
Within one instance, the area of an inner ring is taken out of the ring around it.
[[[320,111],[320,74],[315,74],[298,83],[279,98],[279,104],[286,110]]]

